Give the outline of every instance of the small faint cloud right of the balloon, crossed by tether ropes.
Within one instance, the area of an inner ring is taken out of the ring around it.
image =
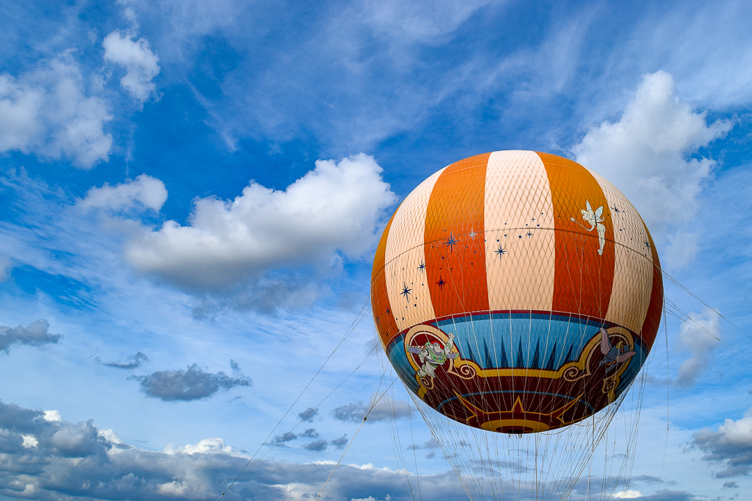
[[[720,336],[720,317],[712,309],[705,308],[702,314],[690,312],[689,317],[692,320],[681,324],[679,331],[682,345],[691,353],[679,366],[675,380],[676,385],[683,387],[693,386],[697,376],[708,367],[710,356],[718,346],[714,337]]]

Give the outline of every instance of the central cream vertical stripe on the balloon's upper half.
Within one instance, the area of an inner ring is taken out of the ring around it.
[[[491,153],[484,218],[490,309],[550,310],[553,203],[546,168],[535,152]]]

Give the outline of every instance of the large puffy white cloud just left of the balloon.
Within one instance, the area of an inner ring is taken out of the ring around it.
[[[338,252],[358,258],[395,200],[373,157],[319,160],[284,191],[252,182],[232,202],[195,201],[190,225],[145,231],[126,258],[183,288],[221,291],[280,267],[332,267]]]

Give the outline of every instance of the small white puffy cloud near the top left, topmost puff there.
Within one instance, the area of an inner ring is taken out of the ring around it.
[[[146,38],[133,38],[130,33],[114,31],[105,37],[102,47],[105,47],[106,61],[126,69],[120,86],[143,103],[156,93],[156,84],[151,80],[159,74],[159,57],[152,52]]]

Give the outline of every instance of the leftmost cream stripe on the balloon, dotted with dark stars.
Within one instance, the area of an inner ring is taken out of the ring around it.
[[[434,318],[431,294],[426,282],[423,237],[426,209],[436,180],[436,172],[414,189],[394,215],[384,256],[387,297],[400,331]]]

